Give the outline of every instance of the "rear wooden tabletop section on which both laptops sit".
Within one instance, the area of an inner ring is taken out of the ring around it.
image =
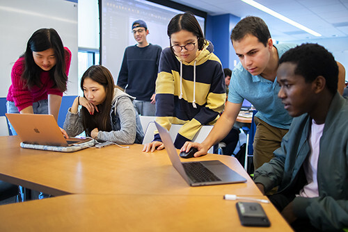
[[[22,149],[17,136],[0,137],[0,179],[52,194],[172,194],[261,196],[237,159],[208,154],[194,160],[221,160],[246,183],[189,187],[171,165],[165,150],[141,151],[116,145],[74,153]],[[190,159],[192,160],[192,159]],[[188,161],[188,160],[183,160]]]

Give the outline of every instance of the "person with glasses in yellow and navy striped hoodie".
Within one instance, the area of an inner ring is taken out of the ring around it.
[[[219,118],[226,99],[225,77],[213,44],[205,40],[192,13],[175,15],[168,24],[171,47],[159,60],[156,81],[156,122],[166,129],[183,126],[175,138],[175,147],[191,141],[203,125]],[[163,149],[158,131],[143,151]]]

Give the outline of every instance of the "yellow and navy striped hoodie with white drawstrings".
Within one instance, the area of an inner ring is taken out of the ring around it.
[[[225,106],[225,77],[213,51],[213,44],[206,41],[191,63],[180,60],[169,47],[161,53],[156,81],[156,122],[167,130],[171,124],[183,124],[174,142],[177,149],[192,140],[201,126],[214,124]],[[161,141],[157,131],[154,140]]]

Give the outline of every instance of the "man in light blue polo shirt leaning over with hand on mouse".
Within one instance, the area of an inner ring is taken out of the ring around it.
[[[182,150],[193,145],[198,147],[195,156],[206,154],[209,147],[232,129],[246,99],[258,110],[254,142],[256,169],[271,160],[292,122],[277,97],[276,72],[279,57],[296,44],[275,46],[267,25],[259,17],[246,17],[238,22],[232,30],[231,41],[240,63],[232,71],[225,111],[202,144],[185,144]]]

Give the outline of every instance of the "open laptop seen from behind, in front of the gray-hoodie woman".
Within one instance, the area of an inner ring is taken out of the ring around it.
[[[6,117],[19,135],[19,138],[21,138],[22,147],[24,144],[33,144],[37,146],[29,146],[28,148],[45,148],[45,150],[54,151],[76,151],[78,149],[83,149],[90,146],[90,141],[94,142],[90,138],[65,139],[53,115],[6,113]],[[86,142],[88,143],[88,146],[79,146],[80,144],[85,145]],[[52,148],[50,148],[49,146],[52,146]],[[53,147],[74,147],[74,149],[54,149]]]

